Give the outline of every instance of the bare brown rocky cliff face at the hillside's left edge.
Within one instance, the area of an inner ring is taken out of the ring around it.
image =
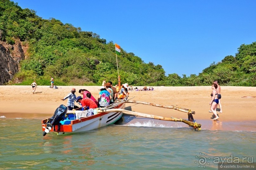
[[[19,61],[25,58],[20,42],[8,45],[0,41],[0,85],[10,81],[19,71]]]

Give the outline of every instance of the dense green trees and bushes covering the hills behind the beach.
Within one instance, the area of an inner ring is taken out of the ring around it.
[[[102,80],[117,83],[115,45],[99,35],[51,18],[42,19],[30,9],[10,0],[0,2],[0,40],[29,46],[28,58],[9,84],[101,85]],[[99,62],[99,64],[98,64]],[[198,76],[165,76],[161,65],[144,63],[134,53],[121,49],[118,56],[121,82],[151,86],[205,86],[213,80],[228,86],[256,86],[256,42],[241,45],[235,56],[211,64]]]

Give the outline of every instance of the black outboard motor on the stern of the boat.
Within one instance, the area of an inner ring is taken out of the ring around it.
[[[43,136],[45,136],[49,131],[52,129],[54,125],[59,125],[60,121],[64,120],[65,115],[68,111],[68,107],[64,105],[60,105],[54,112],[54,115],[49,118],[49,121],[45,127],[45,130],[43,132]]]

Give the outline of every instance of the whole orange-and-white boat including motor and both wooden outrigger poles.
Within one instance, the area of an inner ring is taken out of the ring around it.
[[[150,106],[163,107],[178,110],[181,112],[186,112],[188,114],[188,120],[173,117],[165,118],[161,116],[128,111],[124,109],[126,102],[146,104]],[[82,113],[85,114],[82,115]],[[190,127],[193,127],[193,129],[196,131],[200,130],[201,128],[201,124],[197,124],[196,122],[194,122],[192,114],[195,114],[195,112],[191,111],[190,109],[185,109],[177,106],[162,106],[159,104],[146,103],[141,101],[129,101],[128,97],[116,101],[115,103],[107,107],[94,109],[94,115],[92,116],[86,117],[86,113],[87,111],[68,111],[66,106],[61,105],[56,109],[52,118],[42,120],[43,136],[45,136],[49,132],[57,132],[57,134],[64,134],[90,131],[96,128],[107,126],[109,124],[114,124],[117,120],[119,120],[122,117],[123,113],[128,115],[141,116],[145,118],[183,122],[185,124],[188,124]]]

